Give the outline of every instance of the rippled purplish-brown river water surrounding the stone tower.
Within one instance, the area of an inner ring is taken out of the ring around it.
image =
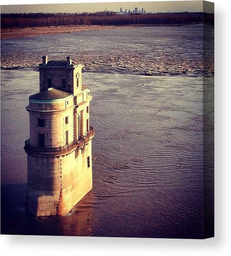
[[[147,27],[1,40],[1,233],[202,238],[202,29]],[[39,91],[33,62],[44,54],[80,54],[75,59],[86,65],[83,84],[93,96],[95,130],[93,189],[68,216],[35,218],[26,211],[25,106]],[[158,58],[166,64],[150,64]],[[213,85],[209,66],[206,79]],[[145,70],[155,74],[144,76]]]

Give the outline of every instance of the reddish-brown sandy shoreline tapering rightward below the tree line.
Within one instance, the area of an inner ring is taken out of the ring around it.
[[[23,28],[23,29],[1,29],[1,39],[5,38],[18,38],[18,37],[32,37],[35,35],[46,34],[61,34],[72,33],[83,30],[103,30],[103,29],[117,29],[128,28],[129,26],[59,26],[59,27],[35,27],[35,28]]]

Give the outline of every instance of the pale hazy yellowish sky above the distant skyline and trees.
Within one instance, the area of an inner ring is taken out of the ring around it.
[[[68,0],[67,0],[68,1]],[[30,1],[30,3],[37,3],[38,1]],[[58,2],[58,1],[57,1]],[[64,2],[64,1],[63,1]],[[76,0],[81,2],[81,0]],[[94,0],[92,1],[94,2]],[[41,3],[41,1],[40,1]],[[211,3],[204,2],[204,11],[214,13],[213,5]],[[202,1],[153,1],[153,2],[105,2],[99,3],[65,3],[65,4],[21,4],[21,5],[1,5],[1,13],[28,13],[28,12],[96,12],[104,11],[120,11],[120,7],[123,10],[134,10],[138,7],[138,10],[144,8],[146,12],[201,12],[203,10]],[[206,9],[206,10],[205,10]]]

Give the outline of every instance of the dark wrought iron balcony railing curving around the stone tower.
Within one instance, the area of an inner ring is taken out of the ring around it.
[[[94,135],[94,129],[92,126],[90,126],[90,129],[87,133],[87,136],[83,136],[79,138],[79,140],[75,140],[70,144],[67,144],[65,146],[60,147],[33,147],[30,145],[30,139],[25,141],[25,151],[29,151],[32,153],[63,153],[69,150],[72,150],[73,148],[77,146],[84,145],[85,142],[89,140],[90,137]]]

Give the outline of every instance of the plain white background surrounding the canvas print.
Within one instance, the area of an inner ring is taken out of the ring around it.
[[[113,2],[121,2],[112,0]],[[112,2],[109,0],[67,0]],[[128,1],[128,0],[127,0]],[[134,1],[134,0],[133,0]],[[147,0],[146,0],[147,1]],[[63,3],[63,0],[0,0],[1,4]],[[228,255],[231,219],[230,15],[229,0],[215,0],[215,238],[207,240],[0,236],[2,255]]]

